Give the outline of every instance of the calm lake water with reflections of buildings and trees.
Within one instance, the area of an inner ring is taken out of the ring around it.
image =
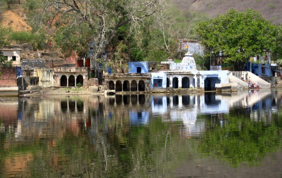
[[[282,177],[282,91],[0,98],[0,177]]]

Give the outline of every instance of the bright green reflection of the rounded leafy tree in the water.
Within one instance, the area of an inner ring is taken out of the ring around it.
[[[211,123],[216,122],[211,119]],[[221,124],[220,124],[221,123]],[[216,124],[210,124],[199,150],[214,155],[237,167],[247,163],[255,166],[266,153],[277,149],[281,128],[276,123],[251,121],[247,115],[231,110]]]

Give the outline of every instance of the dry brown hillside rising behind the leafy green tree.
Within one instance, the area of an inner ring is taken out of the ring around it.
[[[201,12],[210,17],[224,14],[230,8],[244,11],[247,8],[258,10],[261,15],[273,24],[282,23],[282,0],[172,0],[182,11]]]

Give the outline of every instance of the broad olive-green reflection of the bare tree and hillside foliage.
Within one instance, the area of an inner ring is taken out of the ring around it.
[[[120,118],[113,120],[106,123],[107,129],[105,123],[98,124],[95,135],[90,130],[78,135],[66,131],[52,146],[35,151],[29,164],[32,176],[163,175],[177,166],[180,153],[189,155],[189,144],[183,143],[179,128],[172,123],[158,118],[149,126],[129,127]]]

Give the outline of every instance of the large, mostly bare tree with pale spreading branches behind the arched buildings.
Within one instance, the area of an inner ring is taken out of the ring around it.
[[[96,59],[107,53],[117,31],[121,27],[136,30],[142,25],[144,18],[160,11],[165,0],[44,0],[40,26],[49,25],[56,30],[73,30],[79,35],[88,26],[88,32],[83,33],[85,43],[91,48],[92,67]],[[83,26],[84,25],[84,26]],[[78,28],[77,28],[78,27]]]

